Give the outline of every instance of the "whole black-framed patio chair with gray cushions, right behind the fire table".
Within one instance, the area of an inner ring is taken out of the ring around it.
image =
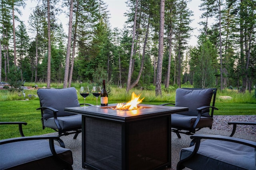
[[[181,138],[180,133],[194,135],[204,127],[212,129],[216,88],[178,88],[175,106],[188,107],[188,111],[171,115],[171,131]],[[213,96],[213,99],[212,99]],[[211,102],[212,100],[212,102]],[[212,105],[210,105],[212,103]],[[171,104],[171,103],[168,103]],[[162,106],[168,104],[161,104]],[[211,111],[210,111],[211,110]]]

